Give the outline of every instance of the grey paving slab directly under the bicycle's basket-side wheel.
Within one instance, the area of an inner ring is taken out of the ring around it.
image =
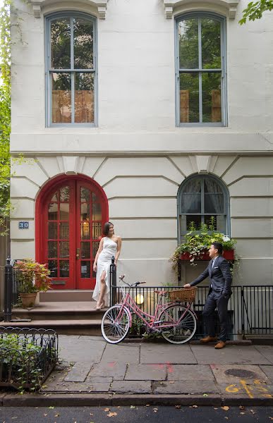
[[[189,345],[169,345],[159,344],[157,348],[154,345],[140,345],[140,363],[141,364],[197,364]]]

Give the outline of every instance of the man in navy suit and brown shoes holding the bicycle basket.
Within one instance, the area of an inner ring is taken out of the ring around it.
[[[190,288],[198,283],[204,281],[207,276],[210,276],[210,292],[207,295],[205,307],[202,316],[207,327],[207,336],[200,339],[200,343],[209,343],[217,341],[214,329],[214,310],[217,307],[221,331],[219,334],[219,341],[214,348],[217,350],[224,348],[227,338],[227,305],[231,296],[232,276],[229,269],[229,262],[222,256],[223,245],[221,243],[212,243],[210,253],[210,263],[207,269],[191,283],[186,283],[184,288]]]

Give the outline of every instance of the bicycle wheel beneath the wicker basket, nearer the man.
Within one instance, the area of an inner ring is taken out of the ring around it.
[[[170,305],[160,314],[159,320],[162,324],[171,324],[179,321],[178,326],[169,326],[162,329],[162,336],[171,343],[186,343],[193,338],[196,331],[196,318],[190,309],[183,305]],[[164,323],[163,323],[164,322]]]

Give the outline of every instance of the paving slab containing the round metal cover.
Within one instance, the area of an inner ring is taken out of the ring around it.
[[[218,384],[236,384],[242,379],[250,384],[255,380],[268,382],[267,375],[257,365],[211,364],[210,367]]]

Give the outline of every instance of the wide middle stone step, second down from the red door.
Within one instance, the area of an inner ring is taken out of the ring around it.
[[[93,321],[101,320],[105,309],[97,310],[94,301],[68,301],[68,302],[40,302],[36,307],[23,309],[15,307],[12,310],[13,319],[31,319],[32,321]]]

